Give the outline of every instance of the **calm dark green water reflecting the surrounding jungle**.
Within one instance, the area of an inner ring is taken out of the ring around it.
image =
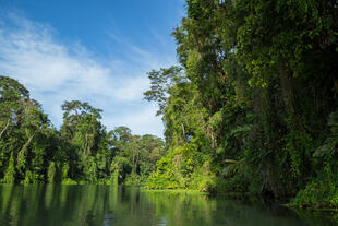
[[[0,186],[0,225],[209,226],[335,225],[258,199],[147,192],[109,186]]]

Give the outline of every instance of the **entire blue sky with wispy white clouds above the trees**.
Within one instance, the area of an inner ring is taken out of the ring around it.
[[[143,100],[146,72],[177,62],[170,33],[183,0],[0,0],[0,74],[19,80],[62,123],[63,100],[104,110],[108,130],[162,136]]]

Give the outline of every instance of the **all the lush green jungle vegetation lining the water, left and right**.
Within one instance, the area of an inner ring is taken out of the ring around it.
[[[186,0],[179,64],[148,72],[164,143],[107,132],[64,102],[55,129],[28,91],[0,79],[2,182],[140,183],[250,192],[338,207],[338,2]]]

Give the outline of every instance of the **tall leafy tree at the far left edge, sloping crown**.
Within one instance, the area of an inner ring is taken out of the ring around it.
[[[22,84],[7,76],[0,76],[0,163],[8,163],[0,175],[7,182],[22,181],[27,175],[31,182],[44,181],[48,151],[41,138],[50,129],[47,115]]]

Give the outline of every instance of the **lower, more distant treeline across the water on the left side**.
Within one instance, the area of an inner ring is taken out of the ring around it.
[[[0,76],[0,181],[4,183],[140,183],[155,169],[164,142],[109,132],[101,110],[79,100],[62,105],[57,130],[17,81]]]

